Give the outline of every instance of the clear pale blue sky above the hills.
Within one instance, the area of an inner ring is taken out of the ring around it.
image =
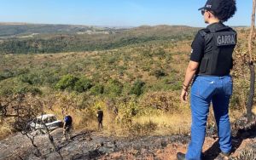
[[[252,0],[236,0],[238,11],[227,22],[249,26]],[[1,0],[1,22],[88,26],[206,26],[197,10],[206,0]]]

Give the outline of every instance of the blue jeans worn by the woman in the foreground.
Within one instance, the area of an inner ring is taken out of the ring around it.
[[[186,153],[187,160],[200,160],[207,127],[209,106],[212,102],[214,117],[218,126],[220,150],[230,152],[231,129],[229,117],[232,77],[196,76],[191,88],[192,112],[191,142]]]

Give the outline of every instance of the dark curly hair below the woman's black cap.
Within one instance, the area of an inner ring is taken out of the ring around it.
[[[223,0],[220,7],[213,12],[214,16],[221,21],[227,21],[236,13],[236,0]]]

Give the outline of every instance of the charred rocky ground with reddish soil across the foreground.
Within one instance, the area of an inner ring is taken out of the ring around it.
[[[245,125],[238,121],[234,125],[234,151],[230,157],[237,157],[245,149],[253,150],[256,157],[256,125]],[[218,157],[218,137],[214,129],[208,129],[203,148],[204,159]],[[52,136],[58,149],[53,150],[47,134],[38,134],[34,141],[40,153],[23,134],[9,136],[0,141],[0,159],[176,159],[177,151],[185,152],[189,135],[148,136],[114,138],[99,132],[78,131],[69,141],[61,140],[61,129],[55,129]]]

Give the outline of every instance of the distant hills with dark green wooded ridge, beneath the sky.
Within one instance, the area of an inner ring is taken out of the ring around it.
[[[134,28],[0,24],[0,54],[38,54],[116,49],[153,41],[191,39],[199,28],[139,26]]]

